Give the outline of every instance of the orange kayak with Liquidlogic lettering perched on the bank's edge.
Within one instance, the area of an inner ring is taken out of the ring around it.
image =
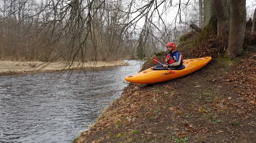
[[[139,72],[132,76],[125,77],[125,80],[132,83],[139,84],[152,84],[157,82],[170,81],[172,79],[176,79],[187,74],[190,74],[194,71],[197,71],[204,67],[211,61],[211,57],[201,57],[196,59],[187,59],[183,60],[183,69],[176,70],[175,68],[170,68],[176,74],[173,74],[168,69],[163,68],[155,68],[151,67],[146,69],[145,71]],[[159,67],[159,66],[158,66]]]

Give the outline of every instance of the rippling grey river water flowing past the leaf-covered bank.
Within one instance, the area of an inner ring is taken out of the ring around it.
[[[110,90],[126,87],[124,77],[143,64],[126,62],[73,71],[69,80],[58,73],[0,76],[0,143],[71,143],[120,97]]]

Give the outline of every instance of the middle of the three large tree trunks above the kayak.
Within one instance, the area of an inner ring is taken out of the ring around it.
[[[217,47],[224,52],[228,43],[229,24],[230,24],[230,2],[228,0],[214,0],[214,7],[217,13]]]

